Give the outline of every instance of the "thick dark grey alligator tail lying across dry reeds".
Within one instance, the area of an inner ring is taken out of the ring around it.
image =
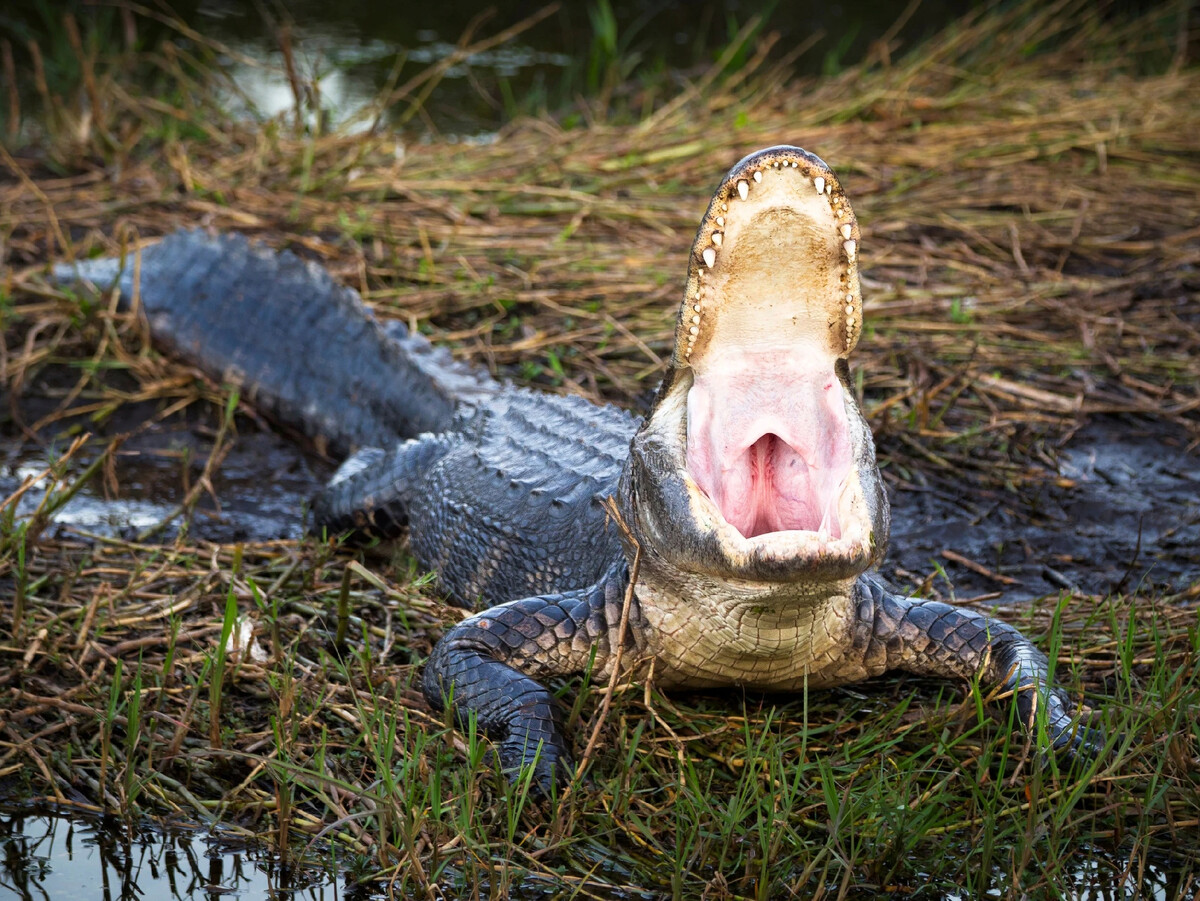
[[[242,235],[176,232],[134,259],[54,269],[137,296],[155,342],[335,456],[444,431],[499,388],[420,335],[384,329],[352,288]]]

